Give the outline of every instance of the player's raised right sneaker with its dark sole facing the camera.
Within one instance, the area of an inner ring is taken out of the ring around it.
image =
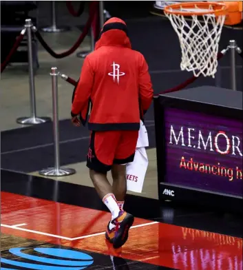
[[[134,216],[121,210],[117,218],[111,221],[112,224],[116,225],[115,235],[112,238],[114,249],[122,247],[127,242],[128,231],[134,223]],[[111,234],[112,236],[112,234]]]

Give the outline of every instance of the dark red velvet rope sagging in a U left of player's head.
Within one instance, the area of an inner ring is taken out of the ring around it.
[[[85,24],[85,27],[83,28],[83,32],[82,32],[81,36],[78,38],[78,40],[76,41],[76,43],[72,46],[72,48],[70,48],[70,50],[67,50],[66,52],[62,52],[61,54],[56,54],[56,52],[54,52],[49,47],[49,45],[47,45],[47,43],[45,43],[43,37],[41,37],[41,34],[38,30],[36,30],[36,32],[35,32],[36,38],[39,40],[41,45],[43,45],[43,48],[45,48],[45,50],[47,50],[47,52],[51,56],[53,56],[54,58],[61,59],[61,58],[64,58],[66,56],[69,56],[70,54],[72,54],[73,52],[76,51],[76,49],[81,45],[81,43],[83,42],[83,40],[87,36],[87,34],[89,32],[89,28],[91,28],[92,21],[94,20],[94,17],[96,15],[96,12],[98,12],[98,1],[90,2],[90,10],[91,10],[91,12],[89,14],[89,19],[87,20],[87,23]]]

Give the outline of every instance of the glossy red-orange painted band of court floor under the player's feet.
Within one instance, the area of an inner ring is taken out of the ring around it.
[[[110,214],[1,192],[1,232],[175,269],[242,269],[242,238],[136,218],[120,250],[105,242]]]

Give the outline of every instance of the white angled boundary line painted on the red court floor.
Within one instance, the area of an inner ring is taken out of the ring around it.
[[[145,227],[145,226],[154,225],[154,224],[157,224],[157,223],[158,223],[158,221],[143,223],[143,224],[140,224],[140,225],[131,226],[130,229],[135,229],[135,228],[138,228],[138,227]],[[102,234],[105,234],[105,231],[103,231],[101,233],[88,234],[87,236],[79,236],[79,237],[75,237],[75,238],[69,238],[69,237],[65,237],[65,236],[57,236],[56,234],[52,234],[52,233],[43,233],[42,231],[34,231],[32,229],[20,228],[20,227],[16,227],[16,225],[15,226],[10,226],[10,225],[1,224],[1,227],[6,227],[6,228],[9,228],[9,229],[17,229],[19,231],[27,231],[29,233],[36,233],[36,234],[41,234],[42,236],[50,236],[50,237],[64,239],[64,240],[70,240],[70,241],[83,239],[83,238],[89,238],[89,237],[93,237],[93,236],[101,236]]]

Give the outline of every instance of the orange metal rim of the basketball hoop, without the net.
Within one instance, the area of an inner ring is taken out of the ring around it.
[[[213,10],[207,10],[209,6],[212,6]],[[180,8],[189,9],[188,11],[182,11]],[[198,12],[195,9],[198,8]],[[191,9],[191,10],[190,10]],[[204,11],[199,11],[200,9],[205,9]],[[168,14],[189,16],[189,15],[224,15],[227,13],[228,7],[225,3],[217,2],[185,2],[185,3],[174,3],[170,6],[164,8],[164,12]]]

